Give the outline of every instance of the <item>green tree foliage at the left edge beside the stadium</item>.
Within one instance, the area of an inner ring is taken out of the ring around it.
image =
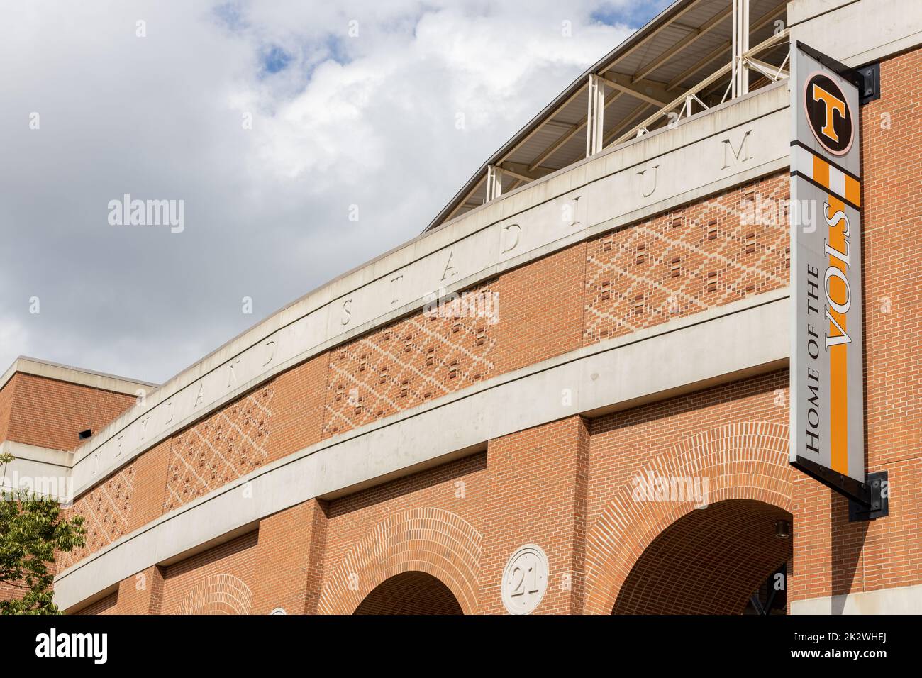
[[[0,455],[0,464],[12,459]],[[0,493],[0,582],[22,592],[0,601],[0,613],[58,614],[50,565],[57,553],[83,546],[85,534],[83,518],[65,518],[49,497],[26,490]]]

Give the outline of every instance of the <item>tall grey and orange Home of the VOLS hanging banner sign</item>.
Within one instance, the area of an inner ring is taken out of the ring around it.
[[[790,461],[834,486],[865,482],[858,89],[791,45]]]

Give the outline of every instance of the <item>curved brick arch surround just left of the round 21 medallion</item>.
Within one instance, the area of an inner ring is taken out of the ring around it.
[[[441,508],[414,508],[387,517],[366,532],[327,579],[317,612],[351,614],[385,580],[405,572],[438,578],[461,610],[477,609],[479,531]]]

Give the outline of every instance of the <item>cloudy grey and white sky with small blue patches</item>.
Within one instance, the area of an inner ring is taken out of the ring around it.
[[[22,354],[165,381],[418,235],[667,5],[5,3],[0,372]],[[112,225],[125,194],[183,200],[183,231]]]

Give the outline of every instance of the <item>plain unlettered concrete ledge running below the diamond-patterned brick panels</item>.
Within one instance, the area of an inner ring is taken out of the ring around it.
[[[92,553],[56,578],[55,601],[74,607],[289,506],[406,475],[502,435],[774,369],[789,349],[786,295],[762,294],[571,351],[307,447]],[[561,403],[564,389],[570,404]]]

